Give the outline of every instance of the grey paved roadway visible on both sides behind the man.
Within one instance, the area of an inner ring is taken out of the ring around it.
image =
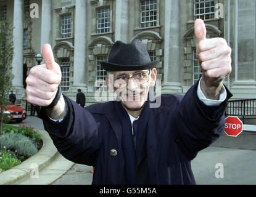
[[[23,123],[44,130],[41,119],[34,116],[28,116]],[[238,137],[223,134],[200,151],[191,164],[197,184],[256,184],[256,132],[242,132]],[[74,164],[52,185],[89,185],[91,169]]]

